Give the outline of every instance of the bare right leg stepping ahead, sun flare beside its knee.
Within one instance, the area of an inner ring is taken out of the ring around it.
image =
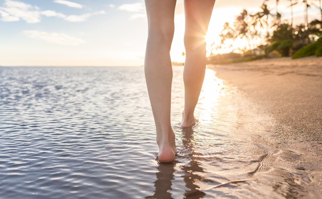
[[[210,17],[215,0],[185,0],[185,109],[182,127],[195,124],[194,108],[198,102],[206,69],[206,42]]]

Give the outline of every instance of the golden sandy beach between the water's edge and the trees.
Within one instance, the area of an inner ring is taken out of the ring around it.
[[[243,114],[252,115],[260,137],[276,148],[297,150],[294,167],[305,171],[315,194],[322,195],[322,58],[208,67],[237,88]]]

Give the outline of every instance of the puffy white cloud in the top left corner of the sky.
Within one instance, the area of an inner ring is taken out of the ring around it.
[[[2,21],[13,22],[22,19],[27,23],[40,22],[40,11],[37,6],[12,0],[6,0],[4,6],[5,7],[0,7]]]

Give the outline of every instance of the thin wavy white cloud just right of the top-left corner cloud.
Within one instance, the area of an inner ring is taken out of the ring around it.
[[[45,10],[45,11],[42,11],[41,14],[48,17],[60,17],[69,22],[83,22],[83,21],[86,21],[92,15],[105,14],[105,11],[101,10],[95,13],[85,13],[82,15],[65,15],[62,13],[57,13],[53,10]]]

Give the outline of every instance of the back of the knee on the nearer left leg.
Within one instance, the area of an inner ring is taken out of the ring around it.
[[[153,42],[157,42],[158,44],[166,44],[171,47],[174,31],[174,24],[149,24],[148,40],[151,39]]]

